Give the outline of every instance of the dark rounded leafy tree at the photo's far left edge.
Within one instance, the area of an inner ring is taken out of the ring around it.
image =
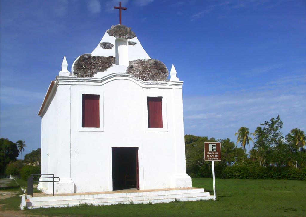
[[[18,157],[17,145],[6,138],[0,138],[0,174],[11,161],[16,161]]]

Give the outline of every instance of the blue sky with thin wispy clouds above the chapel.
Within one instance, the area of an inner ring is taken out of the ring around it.
[[[122,0],[122,23],[184,81],[185,134],[230,138],[278,114],[306,131],[304,0]],[[1,1],[0,137],[40,147],[51,80],[118,24],[118,1]],[[252,146],[252,145],[251,145]]]

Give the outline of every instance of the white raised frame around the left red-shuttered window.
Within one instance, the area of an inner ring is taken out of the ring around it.
[[[99,126],[100,127],[82,127],[82,95],[100,95],[99,97]],[[103,107],[103,91],[85,91],[80,90],[78,94],[78,131],[104,131],[104,107]]]

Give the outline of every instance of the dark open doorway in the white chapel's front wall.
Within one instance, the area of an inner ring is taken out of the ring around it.
[[[139,189],[138,147],[112,148],[113,191]]]

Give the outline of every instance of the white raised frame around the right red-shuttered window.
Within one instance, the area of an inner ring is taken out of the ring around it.
[[[162,128],[149,128],[147,97],[162,97]],[[168,132],[167,98],[165,93],[162,93],[160,91],[144,91],[143,108],[145,132]]]

